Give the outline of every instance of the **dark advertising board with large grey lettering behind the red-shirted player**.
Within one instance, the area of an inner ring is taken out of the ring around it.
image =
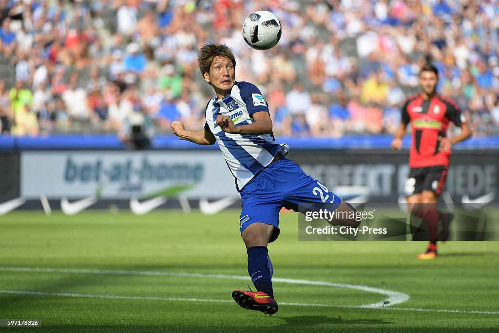
[[[407,152],[294,151],[289,158],[329,188],[367,186],[370,201],[380,203],[394,202],[403,195],[409,174]],[[453,152],[444,193],[449,193],[454,202],[460,203],[463,196],[476,199],[490,193],[496,194],[492,202],[498,202],[498,190],[498,151]]]

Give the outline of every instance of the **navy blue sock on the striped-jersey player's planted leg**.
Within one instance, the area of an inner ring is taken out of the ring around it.
[[[248,249],[248,274],[257,291],[264,292],[271,298],[274,297],[272,290],[273,267],[268,250],[265,246],[252,246]]]

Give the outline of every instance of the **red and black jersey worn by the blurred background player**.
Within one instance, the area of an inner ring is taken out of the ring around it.
[[[411,124],[410,167],[448,166],[451,152],[439,152],[439,137],[447,136],[449,123],[461,127],[464,117],[456,103],[440,94],[424,99],[422,94],[409,97],[402,107],[402,123]]]

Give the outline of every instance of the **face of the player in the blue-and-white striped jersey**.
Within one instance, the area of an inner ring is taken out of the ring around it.
[[[206,82],[210,82],[217,95],[226,96],[236,83],[236,71],[231,59],[216,56],[210,67],[210,73],[204,74]],[[220,96],[219,96],[220,98]]]

